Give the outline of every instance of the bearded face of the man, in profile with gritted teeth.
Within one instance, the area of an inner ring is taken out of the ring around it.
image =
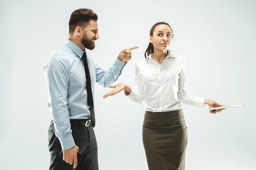
[[[97,21],[90,20],[89,25],[83,29],[81,42],[86,49],[93,50],[95,48],[95,41],[97,39],[99,39]]]

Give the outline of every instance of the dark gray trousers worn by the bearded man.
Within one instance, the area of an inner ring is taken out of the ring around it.
[[[71,124],[72,135],[76,146],[79,147],[79,153],[83,155],[81,162],[77,165],[76,170],[99,170],[98,166],[98,146],[93,127]],[[73,165],[63,161],[59,155],[61,144],[54,133],[54,124],[51,121],[49,130],[49,151],[50,166],[49,170],[74,170]]]

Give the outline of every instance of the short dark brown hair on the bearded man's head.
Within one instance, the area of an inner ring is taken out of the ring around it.
[[[74,33],[76,26],[84,28],[89,24],[90,20],[98,20],[98,16],[94,11],[86,8],[76,9],[70,16],[69,33]]]

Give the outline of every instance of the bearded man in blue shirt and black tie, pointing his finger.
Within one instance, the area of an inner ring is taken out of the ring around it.
[[[97,14],[90,9],[74,11],[70,17],[66,44],[45,63],[48,107],[52,117],[49,126],[49,170],[99,169],[93,130],[94,84],[97,82],[108,87],[114,83],[131,59],[131,50],[138,48],[134,46],[122,50],[112,67],[103,71],[85,52],[85,49],[94,49],[95,41],[99,39],[97,19]],[[78,153],[83,155],[81,161],[77,159]]]

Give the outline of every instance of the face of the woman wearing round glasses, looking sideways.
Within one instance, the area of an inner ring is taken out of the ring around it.
[[[171,46],[172,36],[173,33],[168,25],[157,25],[153,32],[153,36],[149,36],[149,40],[153,44],[154,51],[163,51],[166,53]]]

